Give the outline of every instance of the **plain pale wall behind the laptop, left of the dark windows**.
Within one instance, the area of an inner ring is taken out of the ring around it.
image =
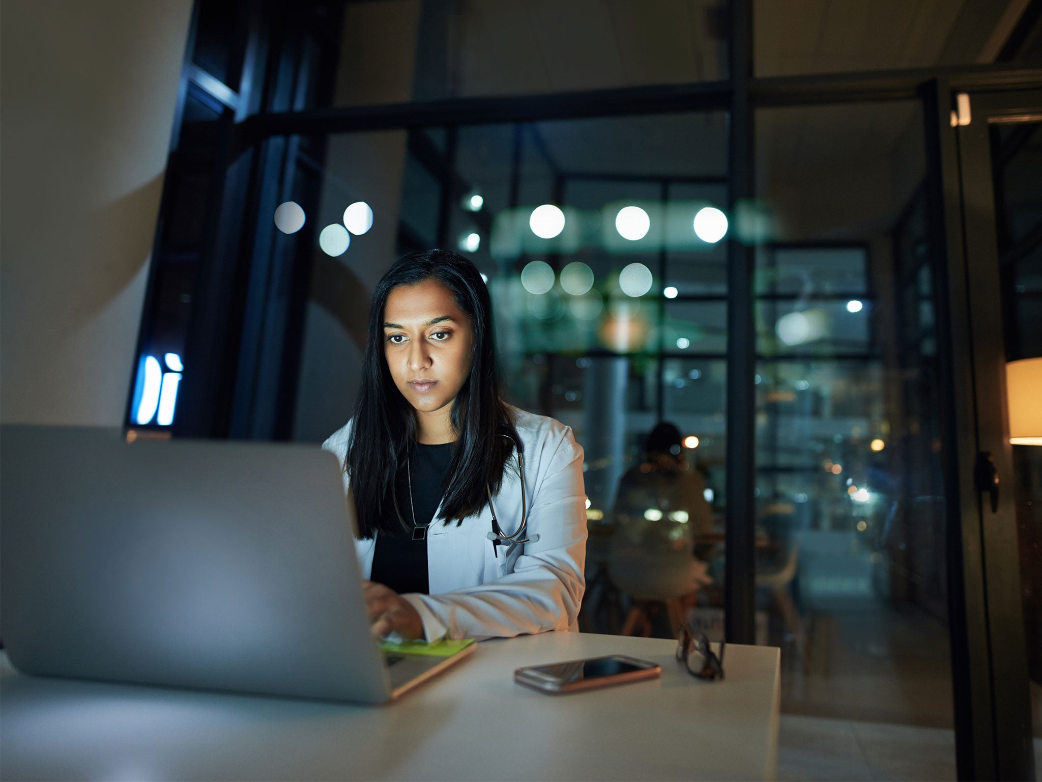
[[[192,0],[0,5],[0,420],[119,425]]]

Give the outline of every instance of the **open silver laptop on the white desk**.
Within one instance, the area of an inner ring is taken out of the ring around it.
[[[0,637],[27,674],[355,703],[467,657],[381,652],[318,447],[0,426]]]

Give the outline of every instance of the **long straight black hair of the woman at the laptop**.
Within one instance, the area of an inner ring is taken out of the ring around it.
[[[470,261],[449,250],[405,255],[373,290],[362,386],[344,460],[364,538],[376,532],[393,533],[398,527],[412,529],[398,509],[395,486],[416,442],[416,414],[395,386],[383,356],[383,314],[392,290],[427,279],[449,289],[456,307],[470,316],[474,334],[470,376],[452,402],[451,421],[460,439],[453,443],[439,518],[462,523],[479,513],[489,502],[486,485],[493,492],[499,490],[514,444],[522,447],[514,416],[499,398],[492,299],[481,274]]]

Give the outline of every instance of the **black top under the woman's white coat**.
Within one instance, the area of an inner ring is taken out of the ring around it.
[[[452,459],[452,443],[425,445],[416,443],[411,457],[413,473],[413,502],[410,504],[407,471],[402,470],[395,487],[398,510],[408,523],[408,530],[401,528],[394,519],[394,534],[377,533],[373,552],[373,568],[370,580],[394,589],[398,594],[420,592],[428,594],[430,582],[427,573],[427,539],[413,539],[413,508],[416,508],[416,523],[426,527],[431,522],[435,511],[445,493],[449,462]],[[394,514],[394,511],[391,511]],[[439,521],[438,523],[444,523]]]

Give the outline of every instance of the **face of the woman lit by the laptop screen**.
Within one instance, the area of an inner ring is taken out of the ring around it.
[[[383,312],[383,356],[401,395],[419,413],[433,413],[460,393],[470,375],[470,317],[441,283],[425,279],[391,291]]]

